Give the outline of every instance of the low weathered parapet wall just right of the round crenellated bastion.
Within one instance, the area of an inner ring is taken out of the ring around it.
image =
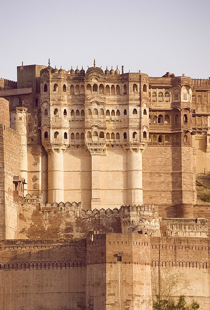
[[[168,237],[208,237],[208,219],[204,218],[161,219],[160,227]]]

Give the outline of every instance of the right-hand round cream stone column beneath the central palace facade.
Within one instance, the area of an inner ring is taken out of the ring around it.
[[[142,153],[133,148],[127,151],[127,204],[143,204]]]

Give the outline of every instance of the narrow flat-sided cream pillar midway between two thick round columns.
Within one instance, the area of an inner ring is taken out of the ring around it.
[[[100,156],[91,154],[91,209],[100,209]]]

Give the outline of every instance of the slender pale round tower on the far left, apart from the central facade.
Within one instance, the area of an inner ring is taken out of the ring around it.
[[[11,128],[20,134],[20,176],[25,179],[24,196],[28,193],[27,108],[11,108]]]

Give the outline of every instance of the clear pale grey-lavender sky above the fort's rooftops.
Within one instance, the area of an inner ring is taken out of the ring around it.
[[[210,76],[209,0],[19,0],[0,4],[0,77],[16,67],[102,66]]]

